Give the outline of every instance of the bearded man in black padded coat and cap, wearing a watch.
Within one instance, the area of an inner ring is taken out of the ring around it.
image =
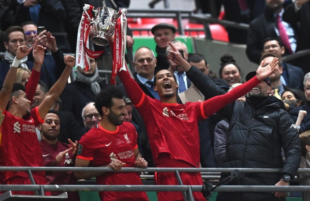
[[[273,58],[274,59],[274,58]],[[262,64],[264,62],[262,61]],[[277,65],[278,66],[278,65]],[[190,71],[186,70],[185,71]],[[277,69],[275,70],[277,71]],[[187,73],[193,84],[210,97],[225,93],[210,83],[210,78],[200,71]],[[248,81],[257,72],[246,76]],[[200,82],[196,77],[202,77]],[[228,139],[223,168],[281,168],[280,173],[246,173],[240,181],[231,185],[289,185],[300,163],[298,131],[285,106],[275,96],[269,96],[271,81],[267,77],[252,88],[245,102],[232,102],[219,110],[218,114],[229,122]],[[281,156],[283,147],[286,160]],[[222,177],[227,177],[222,174]],[[286,192],[233,192],[219,193],[217,200],[286,200]]]

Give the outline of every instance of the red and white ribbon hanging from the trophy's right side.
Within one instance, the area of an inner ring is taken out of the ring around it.
[[[114,31],[114,52],[113,52],[113,68],[111,75],[111,84],[116,84],[115,76],[118,71],[127,71],[127,64],[125,61],[126,51],[126,35],[127,35],[127,19],[126,9],[119,11],[121,14],[116,21]]]

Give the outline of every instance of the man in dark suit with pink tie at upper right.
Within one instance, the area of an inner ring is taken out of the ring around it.
[[[246,41],[246,55],[251,62],[259,63],[261,60],[261,47],[268,37],[279,37],[285,46],[285,55],[295,53],[296,36],[293,24],[282,20],[285,0],[266,0],[266,10],[255,18],[248,29]],[[285,56],[284,55],[284,56]]]

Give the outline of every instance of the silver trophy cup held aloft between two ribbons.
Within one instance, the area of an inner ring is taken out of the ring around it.
[[[118,11],[109,7],[97,7],[94,20],[92,20],[93,32],[95,36],[91,37],[91,41],[100,46],[109,45],[108,37],[114,34],[115,23],[120,14]],[[86,15],[89,17],[87,12]]]

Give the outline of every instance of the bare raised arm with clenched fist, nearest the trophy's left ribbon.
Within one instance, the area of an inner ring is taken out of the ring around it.
[[[64,72],[61,74],[60,78],[47,93],[47,96],[44,98],[42,103],[39,105],[39,114],[41,118],[45,117],[48,110],[51,109],[51,106],[55,103],[56,99],[60,96],[61,92],[64,90],[64,87],[66,86],[67,80],[70,76],[71,70],[75,64],[75,58],[71,55],[64,56],[64,61],[66,64]]]

